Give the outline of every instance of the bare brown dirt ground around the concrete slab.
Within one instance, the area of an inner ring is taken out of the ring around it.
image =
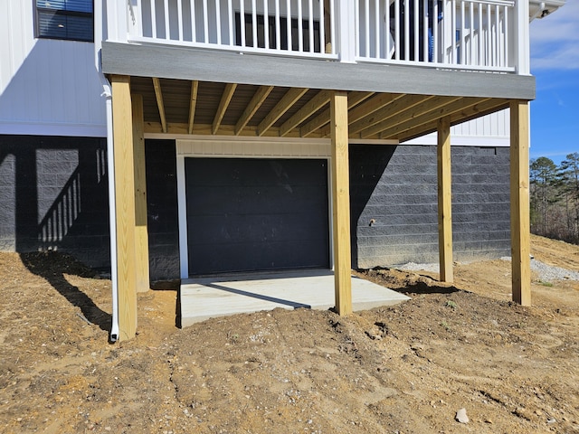
[[[532,238],[579,270],[579,247]],[[176,291],[138,297],[109,344],[110,281],[59,254],[0,254],[0,432],[577,433],[579,282],[510,299],[510,263],[453,286],[368,278],[413,299],[340,317],[276,309],[176,328]],[[468,423],[455,420],[465,409]]]

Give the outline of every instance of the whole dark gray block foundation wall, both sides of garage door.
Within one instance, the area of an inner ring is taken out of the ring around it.
[[[508,147],[453,146],[455,260],[508,255]],[[147,140],[151,280],[179,277],[174,140]],[[356,268],[438,261],[435,146],[350,148]],[[0,250],[60,250],[109,268],[106,140],[0,136]]]

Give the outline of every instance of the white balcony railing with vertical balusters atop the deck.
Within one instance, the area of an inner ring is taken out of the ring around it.
[[[516,0],[117,2],[112,41],[481,71],[520,72],[528,25]]]

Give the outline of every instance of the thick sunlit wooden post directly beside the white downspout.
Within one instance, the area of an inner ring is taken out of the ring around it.
[[[130,79],[113,75],[112,116],[117,221],[117,282],[119,290],[119,341],[137,332],[135,282],[135,176]]]

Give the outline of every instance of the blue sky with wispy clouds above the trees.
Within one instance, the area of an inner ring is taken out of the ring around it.
[[[530,24],[531,73],[536,99],[531,102],[530,157],[546,156],[556,165],[579,153],[579,0]]]

